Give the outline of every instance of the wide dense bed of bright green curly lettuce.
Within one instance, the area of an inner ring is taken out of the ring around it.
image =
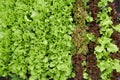
[[[66,80],[74,76],[73,2],[0,0],[0,76],[12,80]]]

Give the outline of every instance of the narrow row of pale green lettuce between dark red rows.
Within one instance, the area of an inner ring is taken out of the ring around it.
[[[97,14],[96,22],[100,26],[100,37],[96,38],[91,36],[92,41],[97,41],[94,54],[97,58],[97,66],[100,68],[100,77],[102,80],[111,80],[111,73],[113,70],[120,72],[120,60],[110,58],[111,53],[120,52],[120,49],[115,45],[111,38],[114,31],[120,32],[120,25],[113,25],[112,16],[109,14],[112,8],[108,6],[108,3],[112,3],[114,0],[98,0],[98,7],[100,8]]]

